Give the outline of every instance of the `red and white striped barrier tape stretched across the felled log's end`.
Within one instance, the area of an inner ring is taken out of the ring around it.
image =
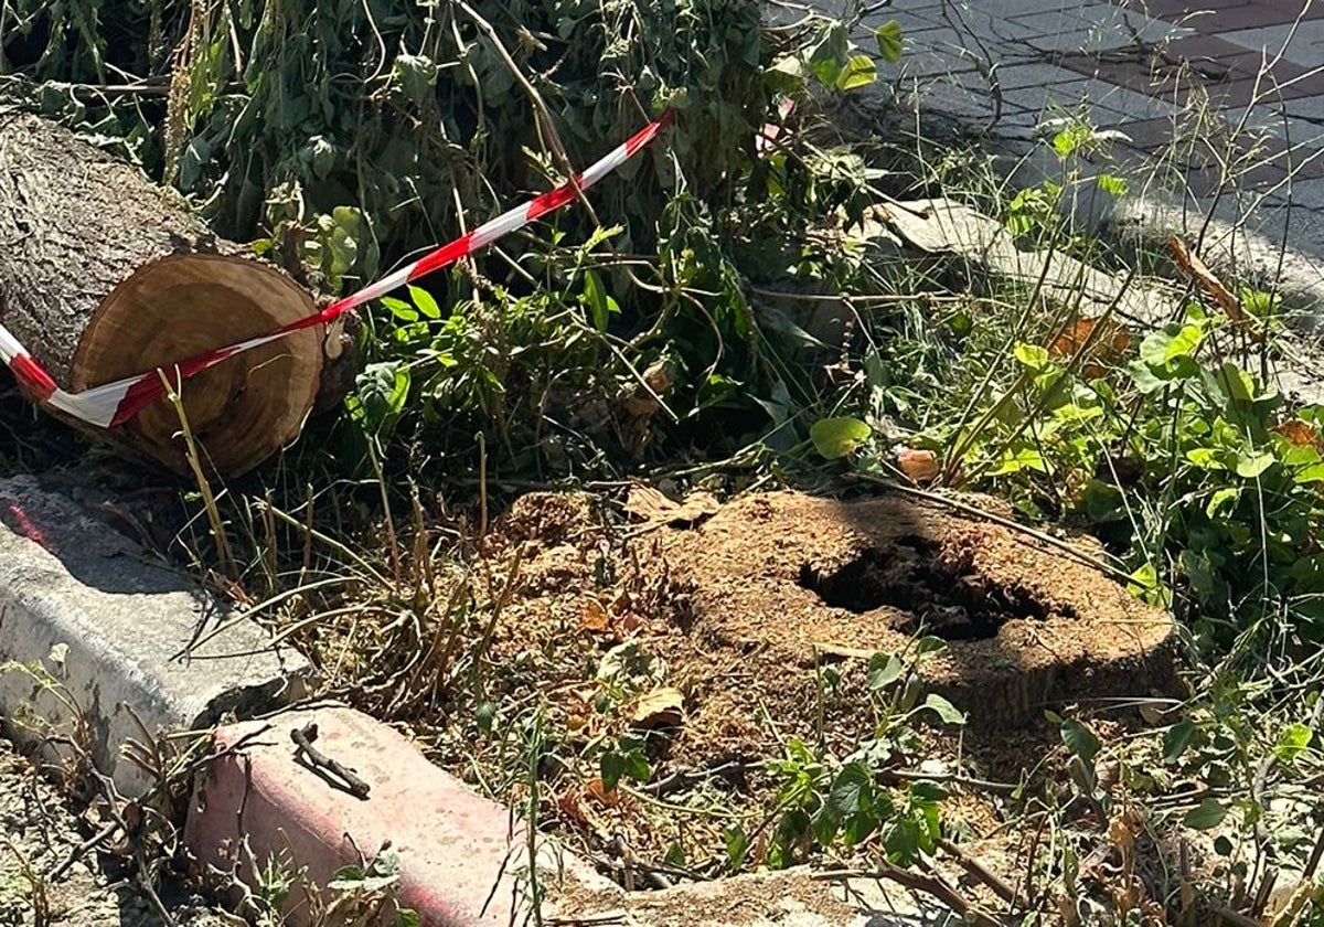
[[[236,354],[249,351],[262,344],[291,335],[303,328],[319,324],[330,324],[346,313],[351,313],[364,303],[379,299],[392,290],[412,283],[413,281],[430,274],[434,270],[454,264],[455,261],[478,252],[493,244],[502,236],[507,236],[516,229],[528,225],[534,220],[545,216],[553,209],[560,209],[572,203],[581,191],[588,189],[608,173],[618,168],[636,152],[649,144],[658,134],[666,128],[673,119],[673,113],[667,111],[657,122],[651,122],[630,138],[625,144],[618,146],[606,158],[602,158],[587,171],[576,173],[560,187],[538,196],[523,205],[515,207],[502,213],[490,222],[479,225],[469,234],[463,234],[450,241],[437,250],[426,254],[418,261],[401,268],[389,277],[365,286],[343,299],[334,302],[320,313],[308,315],[277,328],[269,335],[250,338],[228,347],[208,351],[207,354],[188,358],[168,367],[140,373],[138,376],[106,383],[79,393],[69,393],[60,388],[54,377],[46,372],[32,354],[23,347],[8,328],[0,324],[0,360],[13,372],[19,385],[23,387],[32,399],[68,415],[81,418],[101,428],[115,428],[138,415],[151,403],[166,395],[166,384],[160,372],[164,371],[171,381],[179,384],[203,371],[233,358]]]

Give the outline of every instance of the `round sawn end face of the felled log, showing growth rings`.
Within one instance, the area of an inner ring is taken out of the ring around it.
[[[74,392],[256,338],[305,318],[312,298],[242,257],[176,254],[143,265],[93,314],[78,340]],[[295,332],[184,381],[184,415],[204,467],[237,475],[290,444],[322,375],[320,327]],[[180,417],[159,400],[123,426],[138,453],[188,471]]]

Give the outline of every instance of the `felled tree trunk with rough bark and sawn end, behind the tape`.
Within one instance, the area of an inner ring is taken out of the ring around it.
[[[0,117],[0,322],[71,392],[314,311],[287,274],[217,238],[136,168],[32,115]],[[297,332],[184,383],[188,425],[217,473],[249,470],[298,436],[322,387],[324,334]],[[187,469],[166,400],[115,432],[69,421]]]

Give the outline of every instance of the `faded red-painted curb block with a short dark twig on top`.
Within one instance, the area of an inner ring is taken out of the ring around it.
[[[367,797],[295,760],[290,734],[308,723],[318,728],[312,746],[352,768],[369,787]],[[241,855],[234,846],[246,837],[258,865],[285,853],[324,886],[342,866],[359,865],[359,850],[371,858],[389,841],[401,861],[397,898],[424,924],[514,923],[511,871],[524,854],[507,810],[434,767],[396,731],[351,708],[322,707],[217,731],[217,752],[236,744],[201,779],[189,808],[185,842],[200,861],[234,869]],[[249,869],[238,863],[250,882]],[[306,923],[307,910],[308,899],[295,890],[293,919]]]

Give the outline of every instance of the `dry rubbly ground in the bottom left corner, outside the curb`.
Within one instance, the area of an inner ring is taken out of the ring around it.
[[[0,739],[0,927],[166,927],[109,855],[87,853],[52,878],[91,833],[61,793]],[[197,898],[166,902],[179,927],[242,923]]]

